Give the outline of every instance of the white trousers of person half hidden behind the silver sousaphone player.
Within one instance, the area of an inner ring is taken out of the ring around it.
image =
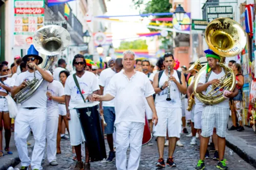
[[[47,110],[46,140],[47,140],[47,159],[50,162],[56,161],[57,153],[57,132],[59,122],[59,110]],[[45,158],[45,157],[44,157]]]

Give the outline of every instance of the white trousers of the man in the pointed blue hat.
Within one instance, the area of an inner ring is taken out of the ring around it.
[[[30,160],[28,155],[27,138],[32,129],[35,145]],[[32,169],[42,169],[41,161],[44,156],[46,145],[46,109],[25,109],[19,108],[15,118],[14,139],[18,156],[22,166],[29,166]]]

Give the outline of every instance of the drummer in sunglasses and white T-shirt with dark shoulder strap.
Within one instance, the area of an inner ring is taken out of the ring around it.
[[[98,80],[93,72],[85,71],[86,60],[80,54],[75,55],[72,63],[73,67],[76,70],[76,78],[81,89],[81,93],[84,96],[84,99],[87,98],[92,101],[92,93],[97,93],[99,90]],[[65,103],[67,109],[67,119],[69,120],[69,133],[70,133],[70,142],[71,145],[75,147],[76,151],[76,166],[79,169],[83,169],[83,162],[81,160],[81,143],[82,143],[82,129],[80,120],[77,116],[77,111],[74,109],[77,104],[84,103],[82,96],[78,90],[78,87],[75,84],[73,75],[70,75],[65,83]],[[85,143],[87,150],[87,145]],[[89,153],[86,152],[86,167],[90,167],[89,163]]]

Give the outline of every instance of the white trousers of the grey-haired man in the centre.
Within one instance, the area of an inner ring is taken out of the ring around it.
[[[116,168],[117,170],[136,170],[140,163],[140,153],[144,123],[120,122],[116,127]],[[126,168],[126,152],[130,144],[130,156]]]

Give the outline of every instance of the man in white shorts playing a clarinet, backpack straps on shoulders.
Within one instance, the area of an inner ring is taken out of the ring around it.
[[[169,136],[169,154],[166,164],[169,166],[176,166],[176,163],[173,160],[173,154],[175,151],[177,138],[180,138],[181,132],[181,93],[185,94],[187,89],[183,73],[174,70],[175,60],[173,54],[166,53],[163,56],[163,59],[165,69],[157,72],[153,81],[153,87],[156,92],[155,105],[159,118],[159,124],[154,129],[154,136],[157,137],[159,152],[159,159],[156,166],[159,167],[165,167],[163,152],[166,130],[168,130]],[[169,79],[168,67],[170,67]],[[170,101],[166,100],[168,86],[170,88]]]

